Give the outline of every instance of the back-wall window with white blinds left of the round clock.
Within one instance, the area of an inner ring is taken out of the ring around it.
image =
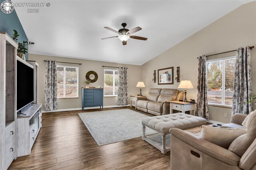
[[[57,65],[58,98],[78,97],[78,67]]]

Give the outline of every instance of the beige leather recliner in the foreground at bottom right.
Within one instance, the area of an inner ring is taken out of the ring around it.
[[[242,124],[245,117],[236,115],[232,123]],[[247,133],[236,138],[228,149],[184,130],[170,129],[171,169],[256,170],[256,111],[250,113],[246,128]]]

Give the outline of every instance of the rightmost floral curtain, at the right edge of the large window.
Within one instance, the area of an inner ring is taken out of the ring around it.
[[[235,113],[248,114],[252,112],[252,104],[247,103],[252,97],[251,73],[251,50],[249,46],[240,47],[236,52],[232,116]]]

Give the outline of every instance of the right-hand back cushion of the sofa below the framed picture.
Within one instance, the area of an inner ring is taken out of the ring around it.
[[[174,101],[178,93],[179,91],[177,89],[162,89],[157,102]]]

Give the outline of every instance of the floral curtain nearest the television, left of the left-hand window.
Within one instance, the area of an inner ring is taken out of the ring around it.
[[[46,61],[44,83],[44,111],[57,109],[57,64],[56,61]]]

